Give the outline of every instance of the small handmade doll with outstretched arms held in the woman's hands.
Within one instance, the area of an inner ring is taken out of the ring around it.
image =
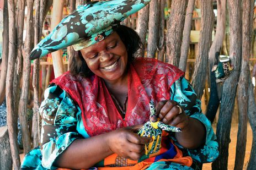
[[[150,121],[146,122],[143,127],[138,130],[138,135],[150,137],[153,139],[152,142],[145,145],[145,155],[156,153],[161,149],[162,130],[168,132],[182,132],[180,128],[160,122],[160,119],[156,116],[156,108],[154,107],[154,102],[151,100]]]

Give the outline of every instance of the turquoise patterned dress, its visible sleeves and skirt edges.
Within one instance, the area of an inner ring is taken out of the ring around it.
[[[200,163],[214,161],[218,157],[218,144],[210,121],[202,114],[201,102],[185,78],[180,78],[170,88],[171,98],[183,107],[191,118],[198,119],[205,125],[205,145],[195,150],[185,149],[170,133],[175,145],[183,151],[184,156],[193,158],[191,167],[173,162],[154,162],[148,169],[197,169]],[[41,147],[31,150],[25,157],[21,169],[56,169],[52,164],[70,144],[79,138],[90,138],[84,129],[81,109],[70,95],[59,86],[51,84],[45,90],[45,100],[41,103],[42,117]],[[99,163],[100,164],[100,163]],[[92,168],[97,169],[97,168]]]

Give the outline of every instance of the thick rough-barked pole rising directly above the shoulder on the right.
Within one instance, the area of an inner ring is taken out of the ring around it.
[[[173,0],[166,35],[166,62],[179,66],[180,46],[188,0]]]

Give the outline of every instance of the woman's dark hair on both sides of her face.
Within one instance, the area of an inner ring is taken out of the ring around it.
[[[144,46],[136,31],[124,25],[116,26],[114,31],[120,36],[126,47],[129,63],[134,61],[135,57],[143,55]],[[81,75],[84,77],[93,75],[80,51],[75,51],[73,56],[71,56],[70,72],[72,75]]]

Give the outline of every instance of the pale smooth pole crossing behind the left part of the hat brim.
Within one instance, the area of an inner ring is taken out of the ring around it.
[[[54,3],[52,5],[53,8],[55,9],[52,12],[52,22],[51,22],[52,30],[62,20],[62,10],[63,10],[64,3],[65,3],[64,0],[61,0],[61,1],[54,0]],[[61,50],[58,50],[58,51],[52,52],[51,55],[52,55],[52,62],[54,63],[54,74],[55,74],[55,77],[58,77],[64,73],[62,52]]]

